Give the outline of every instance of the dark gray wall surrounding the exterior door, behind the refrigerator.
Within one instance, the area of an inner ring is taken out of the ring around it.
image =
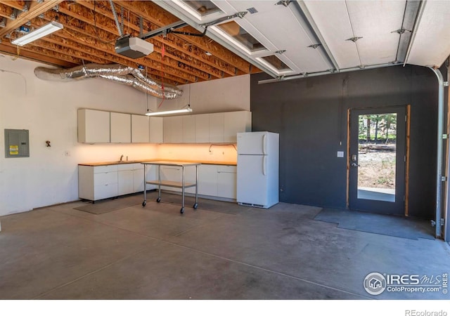
[[[434,218],[437,79],[425,67],[394,66],[257,84],[253,131],[280,133],[281,202],[346,207],[347,109],[411,104],[409,214]],[[338,150],[345,158],[336,157]]]

